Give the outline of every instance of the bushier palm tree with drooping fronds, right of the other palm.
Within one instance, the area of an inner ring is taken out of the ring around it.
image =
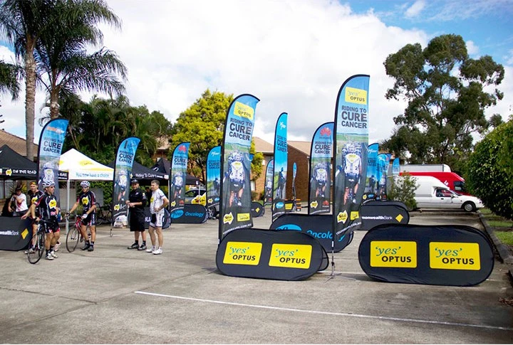
[[[103,39],[96,28],[100,21],[120,27],[119,18],[104,1],[57,1],[50,21],[52,30],[43,34],[36,46],[36,61],[52,119],[59,115],[59,95],[80,90],[117,95],[125,91],[118,75],[124,80],[127,70],[118,56],[105,48],[86,52],[89,45]]]

